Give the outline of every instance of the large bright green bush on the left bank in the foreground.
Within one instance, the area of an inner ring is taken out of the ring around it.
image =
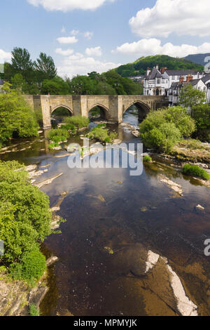
[[[38,241],[43,242],[51,232],[49,198],[31,185],[29,174],[21,167],[17,161],[0,161],[0,238],[5,247],[1,257],[4,263],[20,262],[23,253],[38,248]]]

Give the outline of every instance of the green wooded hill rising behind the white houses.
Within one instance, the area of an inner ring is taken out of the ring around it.
[[[172,58],[168,55],[154,55],[139,58],[133,63],[120,65],[116,68],[116,72],[122,77],[133,77],[145,74],[148,67],[167,67],[168,70],[197,70],[203,71],[203,65],[199,65],[186,58]]]

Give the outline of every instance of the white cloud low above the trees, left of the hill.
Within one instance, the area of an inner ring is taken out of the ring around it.
[[[99,73],[106,72],[121,65],[113,62],[101,62],[92,57],[86,57],[81,53],[76,53],[64,58],[62,65],[58,67],[58,74],[62,77],[68,76],[72,78],[77,74],[87,74],[88,72],[97,71]]]

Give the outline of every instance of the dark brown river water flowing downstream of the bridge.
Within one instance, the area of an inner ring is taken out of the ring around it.
[[[124,121],[137,126],[134,108]],[[141,143],[122,126],[112,127],[125,143]],[[83,143],[79,137],[69,142]],[[63,173],[42,188],[50,206],[68,192],[58,212],[66,219],[62,233],[42,246],[46,256],[59,258],[49,270],[42,315],[179,315],[165,275],[143,275],[142,255],[148,250],[168,259],[198,314],[210,315],[210,257],[204,256],[204,241],[210,238],[207,187],[160,159],[144,164],[141,176],[130,176],[130,169],[69,169],[67,157],[56,158],[66,152],[49,152],[44,136],[11,150],[1,159],[50,164],[37,182]],[[183,187],[183,197],[160,181],[161,174]],[[204,213],[197,213],[197,204]]]

